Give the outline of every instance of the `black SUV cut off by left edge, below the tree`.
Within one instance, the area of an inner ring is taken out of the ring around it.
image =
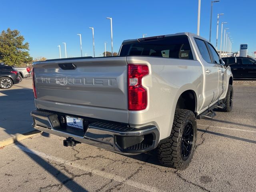
[[[0,88],[9,89],[13,84],[19,83],[18,71],[14,70],[12,66],[0,64]]]

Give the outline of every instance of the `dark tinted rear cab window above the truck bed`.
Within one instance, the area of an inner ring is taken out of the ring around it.
[[[158,36],[162,38],[142,38],[132,42],[124,42],[120,56],[154,56],[194,60],[188,36]]]

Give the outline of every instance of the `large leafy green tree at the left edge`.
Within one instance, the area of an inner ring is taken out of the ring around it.
[[[18,30],[2,31],[0,34],[0,62],[7,65],[26,66],[32,61],[29,55],[29,44]]]

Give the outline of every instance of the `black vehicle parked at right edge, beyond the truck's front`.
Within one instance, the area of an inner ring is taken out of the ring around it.
[[[248,57],[224,57],[222,60],[230,66],[234,78],[256,79],[256,60]]]

